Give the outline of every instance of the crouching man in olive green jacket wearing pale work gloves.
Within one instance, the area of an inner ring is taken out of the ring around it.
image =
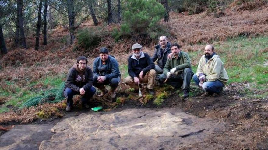
[[[192,79],[191,60],[187,53],[180,50],[180,45],[174,43],[171,45],[172,58],[168,59],[163,68],[163,74],[160,75],[159,82],[166,83],[178,89],[182,86],[182,97],[189,96],[190,82]]]

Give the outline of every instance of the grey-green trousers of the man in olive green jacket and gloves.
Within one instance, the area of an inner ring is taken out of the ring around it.
[[[180,88],[182,86],[183,90],[190,90],[190,82],[192,79],[193,72],[190,68],[183,69],[183,72],[178,75],[171,75],[171,77],[166,82],[167,84],[173,86],[174,88]],[[167,75],[164,73],[160,75],[159,82],[164,83]]]

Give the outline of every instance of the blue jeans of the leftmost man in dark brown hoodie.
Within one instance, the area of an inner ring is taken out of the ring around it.
[[[96,89],[93,86],[91,86],[90,89],[87,89],[85,94],[81,98],[82,104],[86,104],[88,102],[88,100],[95,94],[95,92],[96,92]],[[72,101],[73,96],[74,95],[80,95],[80,92],[73,91],[70,88],[65,88],[64,95],[67,98],[67,105],[72,107],[72,105],[73,105],[73,101]]]

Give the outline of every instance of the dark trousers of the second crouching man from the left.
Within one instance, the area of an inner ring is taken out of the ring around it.
[[[104,85],[110,85],[111,86],[111,90],[115,90],[120,82],[120,76],[116,77],[116,78],[111,78],[111,79],[106,79],[104,80],[103,83],[98,83],[98,78],[94,77],[93,78],[93,86],[99,88],[99,89],[103,89],[105,88]]]

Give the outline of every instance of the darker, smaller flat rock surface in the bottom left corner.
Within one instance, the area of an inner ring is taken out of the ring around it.
[[[43,140],[49,140],[55,124],[16,125],[0,137],[1,150],[35,150]]]

